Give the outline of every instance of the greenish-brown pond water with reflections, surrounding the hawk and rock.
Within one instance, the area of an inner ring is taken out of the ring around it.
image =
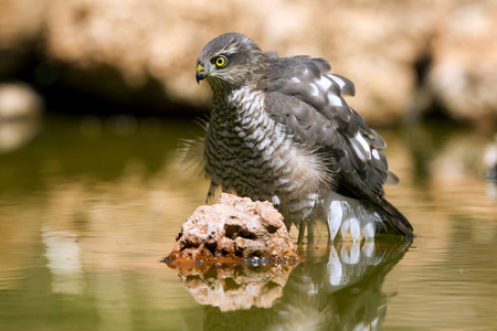
[[[329,246],[318,226],[293,270],[192,279],[160,260],[208,190],[176,158],[197,125],[52,116],[23,130],[0,135],[0,330],[497,329],[491,135],[380,130],[412,243]]]

